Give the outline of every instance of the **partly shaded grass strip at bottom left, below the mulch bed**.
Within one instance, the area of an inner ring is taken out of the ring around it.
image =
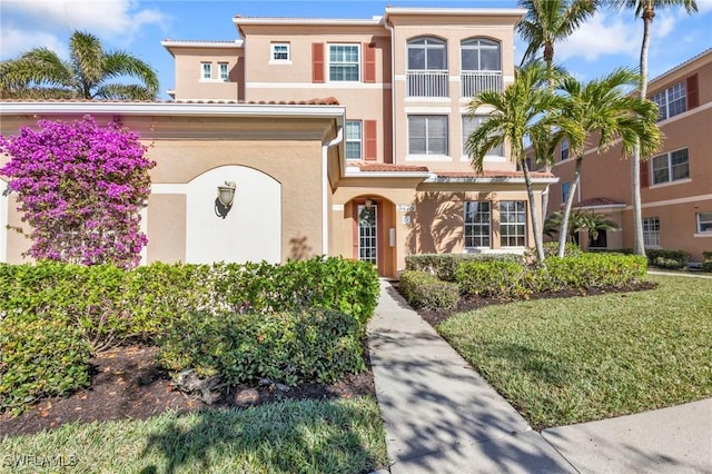
[[[372,397],[71,424],[0,443],[2,473],[367,473],[387,458]]]

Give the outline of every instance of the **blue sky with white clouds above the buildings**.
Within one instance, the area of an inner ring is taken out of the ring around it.
[[[67,56],[72,30],[98,36],[107,49],[122,49],[146,60],[159,73],[161,98],[175,85],[172,57],[164,39],[234,40],[233,17],[372,18],[394,7],[508,8],[516,0],[488,1],[138,1],[138,0],[1,0],[0,59],[44,46]],[[660,10],[654,20],[650,75],[655,77],[712,48],[712,0],[698,0],[700,12]],[[556,46],[556,61],[581,80],[600,77],[619,66],[636,67],[642,20],[631,10],[603,10]],[[518,61],[525,46],[516,40]]]

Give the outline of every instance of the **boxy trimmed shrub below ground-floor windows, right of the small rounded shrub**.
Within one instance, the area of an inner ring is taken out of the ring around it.
[[[526,297],[532,273],[514,261],[466,261],[457,267],[457,285],[465,295],[490,298]]]

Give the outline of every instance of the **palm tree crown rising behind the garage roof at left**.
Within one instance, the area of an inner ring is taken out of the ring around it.
[[[109,82],[123,77],[139,82]],[[125,51],[107,52],[96,36],[82,31],[69,39],[69,61],[34,48],[0,62],[1,98],[152,100],[157,93],[158,77],[148,63]]]

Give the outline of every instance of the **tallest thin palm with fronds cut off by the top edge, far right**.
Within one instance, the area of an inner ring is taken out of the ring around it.
[[[650,31],[655,18],[655,9],[684,7],[685,11],[691,14],[698,11],[698,2],[695,0],[613,0],[613,6],[621,10],[622,8],[635,9],[635,17],[643,20],[643,42],[641,45],[640,58],[640,83],[639,90],[641,97],[647,96],[647,47],[650,45]],[[645,154],[641,152],[640,147],[633,151],[631,160],[631,189],[633,194],[633,251],[635,255],[645,255],[645,246],[643,243],[643,214],[641,204],[641,157]]]

